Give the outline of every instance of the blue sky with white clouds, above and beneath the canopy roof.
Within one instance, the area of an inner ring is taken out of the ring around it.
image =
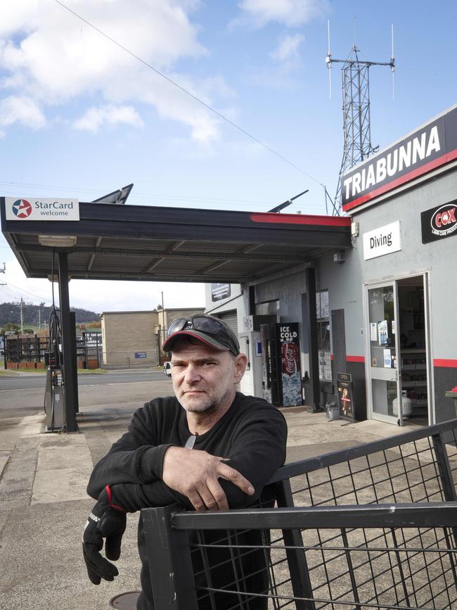
[[[373,145],[457,100],[453,0],[64,0],[63,4],[300,167],[288,165],[72,15],[56,0],[0,3],[0,193],[91,201],[134,182],[131,204],[326,212],[342,155],[340,70],[371,68]],[[319,184],[321,183],[321,184]],[[51,298],[0,238],[0,300]],[[203,303],[202,286],[72,281],[72,305],[102,310]],[[32,296],[30,293],[35,295]]]

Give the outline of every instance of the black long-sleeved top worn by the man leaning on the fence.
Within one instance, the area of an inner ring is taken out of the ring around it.
[[[167,506],[174,502],[179,502],[186,509],[192,509],[186,497],[169,488],[161,479],[165,451],[170,445],[183,447],[189,436],[191,431],[187,426],[186,412],[176,398],[157,398],[147,402],[143,408],[135,412],[127,433],[112,445],[110,452],[96,464],[87,488],[89,495],[98,498],[104,486],[108,484],[112,485],[115,502],[130,512],[146,507]],[[286,437],[287,426],[278,409],[260,398],[237,393],[231,407],[217,424],[198,436],[194,449],[228,458],[226,463],[252,483],[255,496],[247,496],[233,483],[224,479],[219,480],[226,493],[229,507],[244,508],[255,504],[264,485],[284,463]],[[238,542],[260,544],[259,536],[259,533],[252,531],[243,535],[243,542],[240,540]],[[217,540],[218,537],[221,538],[220,532],[211,533],[212,540]],[[141,571],[143,594],[139,599],[138,608],[153,610],[141,522],[139,552],[143,564]],[[220,557],[217,557],[217,563],[219,559]],[[264,553],[251,553],[248,559],[250,566],[243,564],[243,568],[248,567],[258,572],[255,579],[248,583],[250,590],[255,589],[257,592],[264,590],[266,577]],[[209,561],[213,563],[211,558]],[[198,569],[200,566],[196,565],[199,561],[194,560],[194,563],[197,573],[200,571]],[[212,585],[216,588],[228,585],[233,580],[233,575],[230,576],[229,572],[224,568],[224,571],[213,573]],[[235,607],[234,597],[236,599],[233,595],[221,596],[222,599],[217,601],[217,610]],[[204,609],[211,606],[207,606],[202,599],[199,607]],[[257,599],[257,605],[255,602],[243,607],[253,610],[266,605],[263,605],[263,600],[259,603]]]

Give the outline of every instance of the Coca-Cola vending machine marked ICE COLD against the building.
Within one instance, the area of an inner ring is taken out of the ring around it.
[[[262,324],[264,398],[278,407],[302,405],[298,322]]]

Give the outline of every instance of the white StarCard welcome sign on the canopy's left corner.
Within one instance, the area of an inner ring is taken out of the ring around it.
[[[6,220],[79,220],[78,199],[5,197]]]

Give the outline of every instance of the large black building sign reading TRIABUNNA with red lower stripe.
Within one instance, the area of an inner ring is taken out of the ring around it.
[[[457,158],[457,107],[360,163],[342,177],[346,212]]]

